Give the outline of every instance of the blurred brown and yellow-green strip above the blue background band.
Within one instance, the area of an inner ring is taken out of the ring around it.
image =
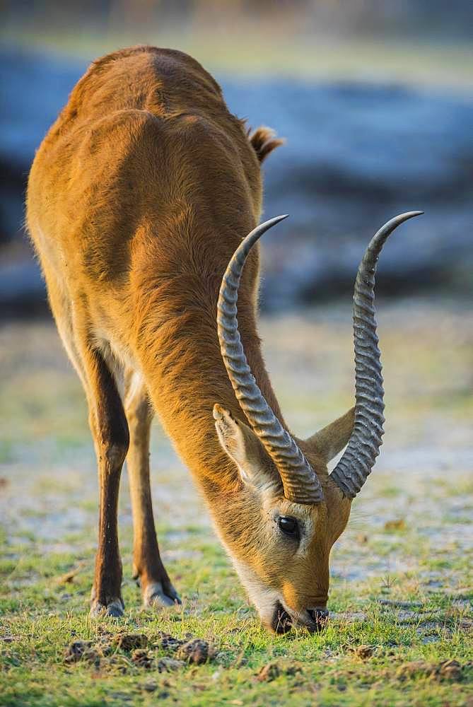
[[[413,0],[6,1],[3,42],[87,58],[141,42],[212,71],[465,86],[471,3]]]

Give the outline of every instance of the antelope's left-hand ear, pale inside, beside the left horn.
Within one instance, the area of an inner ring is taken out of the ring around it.
[[[260,491],[274,486],[269,459],[255,433],[221,405],[214,405],[214,420],[222,449],[238,467],[242,481]]]

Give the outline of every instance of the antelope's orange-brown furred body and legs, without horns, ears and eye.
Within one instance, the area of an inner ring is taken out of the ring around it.
[[[231,255],[259,221],[259,163],[279,144],[267,128],[249,137],[194,59],[134,47],[90,66],[35,157],[28,227],[59,333],[86,390],[98,456],[95,613],[121,613],[117,493],[125,455],[144,600],[177,600],[151,507],[153,410],[204,493],[235,565],[259,563],[259,578],[277,585],[296,611],[327,600],[329,549],[349,501],[327,477],[323,443],[300,441],[322,475],[327,503],[290,509],[315,525],[308,556],[296,562],[271,537],[264,515],[264,504],[288,504],[276,470],[262,457],[274,493],[250,489],[212,418],[216,402],[243,418],[218,348],[216,300]],[[259,387],[282,420],[257,336],[258,267],[255,250],[238,300],[240,333]],[[337,436],[348,438],[352,423],[351,416]]]

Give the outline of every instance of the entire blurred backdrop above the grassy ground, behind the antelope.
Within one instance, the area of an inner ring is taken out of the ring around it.
[[[473,291],[469,0],[3,1],[0,309],[47,312],[23,230],[35,148],[97,56],[141,42],[196,57],[230,110],[287,144],[265,165],[262,305],[349,297],[363,245],[421,209],[383,254],[379,292]],[[289,245],[290,244],[290,245]]]

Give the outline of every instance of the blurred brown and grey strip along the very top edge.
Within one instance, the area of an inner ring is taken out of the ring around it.
[[[419,35],[465,37],[471,34],[467,20],[472,8],[468,0],[445,4],[442,0],[11,0],[4,2],[7,22],[23,25],[66,26],[83,21],[90,28],[146,28],[156,23],[199,29],[208,25],[218,31],[232,23],[250,25],[265,33],[339,35]]]

